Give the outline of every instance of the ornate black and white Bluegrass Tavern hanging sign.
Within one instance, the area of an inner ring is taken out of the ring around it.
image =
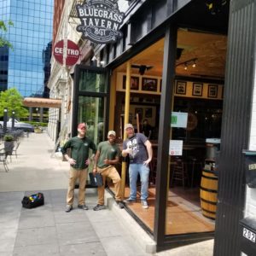
[[[96,44],[114,43],[123,37],[119,26],[124,20],[124,13],[119,12],[118,0],[87,0],[77,4],[77,14],[81,25],[77,31]]]

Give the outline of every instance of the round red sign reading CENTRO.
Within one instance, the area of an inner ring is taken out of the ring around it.
[[[64,54],[64,40],[59,41],[55,44],[54,56],[55,60],[63,65],[63,54]],[[67,58],[66,65],[73,66],[79,60],[80,51],[79,46],[70,40],[67,40]]]

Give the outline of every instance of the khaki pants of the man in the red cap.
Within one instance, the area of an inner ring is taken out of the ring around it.
[[[73,205],[74,188],[78,178],[79,178],[79,205],[84,205],[87,169],[75,169],[72,166],[70,166],[70,170],[69,170],[67,205],[71,205],[71,206]]]

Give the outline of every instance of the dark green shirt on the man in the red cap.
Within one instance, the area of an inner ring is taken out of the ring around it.
[[[71,149],[71,157],[73,160],[76,160],[76,164],[73,166],[75,169],[87,168],[85,161],[89,157],[89,148],[94,154],[96,153],[96,145],[89,137],[72,137],[65,143],[63,148],[61,148],[62,154],[67,154],[67,148]]]

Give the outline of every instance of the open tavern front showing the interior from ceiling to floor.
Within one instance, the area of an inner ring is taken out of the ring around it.
[[[181,157],[177,156],[177,159],[175,159],[176,156],[170,156],[169,169],[166,170],[169,172],[170,178],[166,235],[212,232],[214,230],[214,220],[204,217],[201,211],[200,186],[201,174],[207,158],[206,140],[209,137],[220,137],[226,40],[226,36],[217,34],[189,32],[183,29],[179,29],[177,32],[176,79],[172,111],[188,113],[189,127],[172,128],[170,134],[170,140],[183,141],[183,152]],[[216,49],[216,45],[218,45],[218,49]],[[160,39],[130,60],[134,64],[133,67],[131,65],[131,78],[134,78],[131,81],[138,81],[138,84],[131,84],[131,123],[137,125],[136,113],[140,113],[141,119],[146,118],[146,114],[147,116],[152,114],[154,117],[150,125],[154,126],[155,134],[158,134],[161,114],[163,55],[164,39]],[[125,65],[124,63],[113,70],[116,81],[113,85],[116,90],[114,129],[117,131],[120,129],[120,117],[124,112]],[[150,68],[145,68],[144,73],[141,73],[140,68],[137,67],[142,66]],[[145,84],[149,85],[146,86]],[[152,108],[152,110],[146,111],[146,108]],[[122,131],[120,129],[120,132]],[[122,134],[120,132],[119,138],[121,139]],[[129,205],[129,211],[139,218],[140,223],[143,222],[143,227],[148,232],[153,234],[157,136],[154,137],[152,144],[154,145],[154,160],[150,170],[149,209],[143,210],[138,201],[131,206]],[[173,175],[173,170],[178,164],[177,160],[181,160],[183,170],[187,170],[181,180],[178,178],[173,180],[176,177]],[[193,179],[191,170],[193,170]],[[185,183],[183,183],[183,179]],[[139,189],[137,193],[139,198]],[[127,186],[125,197],[128,196],[129,188]]]

